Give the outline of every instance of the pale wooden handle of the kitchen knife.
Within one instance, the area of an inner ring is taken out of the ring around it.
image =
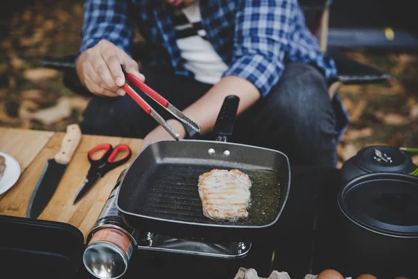
[[[82,130],[79,126],[77,124],[68,125],[67,133],[61,143],[61,150],[54,157],[56,163],[68,165],[81,139]]]

